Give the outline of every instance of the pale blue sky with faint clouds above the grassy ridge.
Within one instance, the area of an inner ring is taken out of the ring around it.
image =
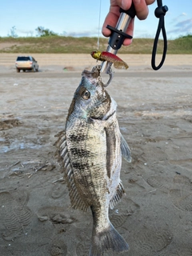
[[[166,13],[168,39],[192,34],[192,0],[162,0],[169,7]],[[0,36],[10,34],[15,26],[18,36],[36,36],[42,26],[66,36],[98,36],[100,0],[6,0],[0,1]],[[100,26],[108,13],[110,0],[102,0]],[[154,38],[158,18],[154,17],[157,2],[149,6],[145,21],[135,19],[134,38]],[[100,33],[101,35],[101,33]]]

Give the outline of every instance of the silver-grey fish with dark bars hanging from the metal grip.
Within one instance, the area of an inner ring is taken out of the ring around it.
[[[117,103],[103,86],[98,66],[84,70],[70,104],[65,130],[58,134],[56,142],[71,206],[92,212],[89,256],[101,256],[106,250],[129,250],[109,219],[109,209],[125,194],[120,179],[122,156],[131,162],[130,147],[119,130],[116,109]]]

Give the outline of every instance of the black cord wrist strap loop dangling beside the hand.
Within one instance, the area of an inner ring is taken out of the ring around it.
[[[154,47],[152,51],[152,58],[151,58],[151,66],[154,70],[159,70],[165,59],[166,59],[166,50],[167,50],[167,39],[166,39],[166,29],[165,29],[165,21],[164,17],[166,15],[166,12],[168,10],[167,6],[162,6],[162,0],[157,0],[158,2],[158,7],[155,9],[154,14],[157,18],[159,18],[158,21],[158,30],[154,38]],[[158,66],[155,65],[155,58],[157,54],[157,47],[158,47],[158,39],[159,39],[159,34],[162,30],[162,37],[163,37],[163,53],[162,53],[162,61],[158,64]]]

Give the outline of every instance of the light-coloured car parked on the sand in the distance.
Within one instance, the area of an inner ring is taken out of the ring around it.
[[[23,70],[33,70],[34,72],[38,72],[38,62],[31,56],[18,56],[15,62],[17,72]]]

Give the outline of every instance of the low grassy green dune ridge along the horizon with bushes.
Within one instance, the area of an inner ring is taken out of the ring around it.
[[[42,27],[38,28],[41,34],[39,37],[0,37],[0,53],[87,54],[97,50],[98,38],[64,37],[54,35],[50,30],[42,30]],[[106,50],[107,42],[107,38],[100,38],[100,50]],[[153,43],[154,39],[134,38],[130,46],[122,46],[119,54],[151,54]],[[160,40],[158,54],[162,53],[162,47],[163,42]],[[192,54],[192,35],[169,40],[167,54]]]

